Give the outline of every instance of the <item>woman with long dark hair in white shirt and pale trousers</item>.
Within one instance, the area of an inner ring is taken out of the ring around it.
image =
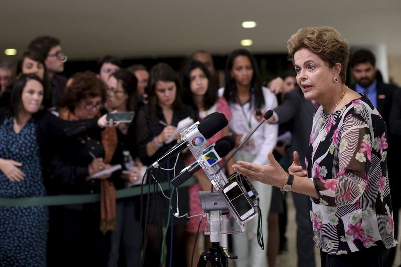
[[[234,50],[226,61],[225,87],[219,94],[227,100],[233,119],[229,122],[236,144],[242,136],[250,132],[262,117],[256,117],[256,111],[262,114],[277,106],[276,96],[261,85],[259,70],[253,55],[245,49]],[[238,151],[235,160],[246,160],[255,164],[266,163],[266,153],[273,151],[277,141],[277,125],[263,124],[249,141]],[[253,182],[259,193],[263,221],[263,239],[267,243],[267,216],[270,208],[272,187],[260,182]],[[233,235],[234,254],[238,256],[237,266],[266,266],[266,253],[257,242],[257,220],[245,225],[245,232]],[[252,238],[249,240],[248,236]]]

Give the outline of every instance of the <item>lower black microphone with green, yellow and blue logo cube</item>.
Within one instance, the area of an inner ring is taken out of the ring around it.
[[[202,154],[201,160],[206,162],[208,167],[212,167],[221,161],[235,147],[235,141],[231,136],[225,136],[216,141],[215,144],[208,146]],[[200,170],[201,166],[198,161],[183,169],[177,177],[171,180],[174,187],[178,187],[188,180],[192,175]]]

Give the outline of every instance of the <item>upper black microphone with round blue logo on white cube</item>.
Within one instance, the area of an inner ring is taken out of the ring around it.
[[[167,151],[167,153],[150,165],[148,170],[157,168],[161,163],[173,158],[187,146],[201,146],[205,144],[207,139],[214,136],[217,132],[226,127],[227,124],[228,121],[222,113],[214,112],[209,114],[198,124],[195,123],[192,126],[192,129],[187,134],[187,136],[190,136],[190,138],[181,140],[178,144],[173,146],[169,151]]]

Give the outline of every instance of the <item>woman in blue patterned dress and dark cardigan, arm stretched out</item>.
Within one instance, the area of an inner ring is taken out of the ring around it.
[[[43,94],[38,76],[21,74],[10,109],[0,109],[0,198],[46,195],[50,140],[105,126],[105,116],[67,122],[40,110]],[[47,207],[0,206],[0,266],[46,266],[47,233]]]

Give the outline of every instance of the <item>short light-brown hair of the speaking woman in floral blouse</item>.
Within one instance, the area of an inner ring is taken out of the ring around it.
[[[301,48],[309,49],[318,55],[330,67],[341,63],[340,77],[345,83],[349,60],[348,42],[333,27],[301,28],[287,41],[289,58],[294,63],[294,54]]]

